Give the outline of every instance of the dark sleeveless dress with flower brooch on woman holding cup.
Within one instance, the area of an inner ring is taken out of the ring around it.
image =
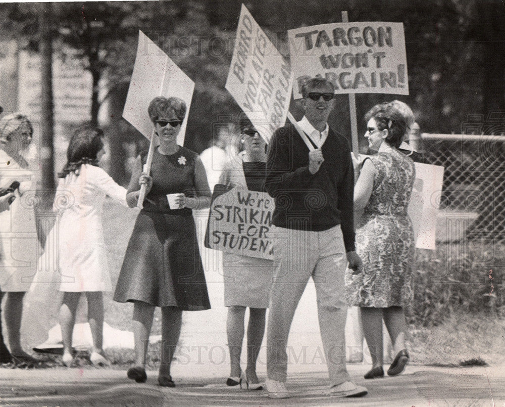
[[[141,154],[142,164],[146,153]],[[126,249],[114,300],[142,301],[181,310],[209,309],[204,268],[191,209],[170,209],[167,194],[195,195],[197,154],[185,147],[153,155],[153,187],[143,203]]]

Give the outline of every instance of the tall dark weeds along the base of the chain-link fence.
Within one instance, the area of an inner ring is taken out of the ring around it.
[[[505,317],[505,243],[465,241],[416,250],[414,302],[407,314],[416,326],[437,326],[450,315]]]

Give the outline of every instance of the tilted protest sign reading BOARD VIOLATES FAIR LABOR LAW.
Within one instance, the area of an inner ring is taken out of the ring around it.
[[[284,125],[291,68],[244,5],[225,87],[267,142]]]

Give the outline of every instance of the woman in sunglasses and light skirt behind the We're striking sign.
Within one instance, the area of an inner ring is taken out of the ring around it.
[[[219,184],[265,192],[266,143],[249,123],[241,126],[240,133],[244,150],[224,165]],[[226,333],[231,363],[230,377],[226,381],[228,386],[262,389],[256,375],[256,362],[265,333],[265,314],[274,270],[272,260],[223,252],[224,304],[228,307]],[[247,367],[242,372],[240,354],[247,307]]]

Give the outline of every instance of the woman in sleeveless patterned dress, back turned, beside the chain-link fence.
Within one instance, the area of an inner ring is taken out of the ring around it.
[[[347,270],[350,305],[361,308],[363,331],[372,357],[365,379],[384,376],[382,320],[396,357],[387,374],[400,374],[409,360],[403,306],[412,298],[414,231],[407,207],[414,185],[411,158],[398,151],[406,123],[390,104],[376,105],[365,115],[369,147],[378,153],[363,162],[354,190],[358,220],[356,245],[363,273]]]

